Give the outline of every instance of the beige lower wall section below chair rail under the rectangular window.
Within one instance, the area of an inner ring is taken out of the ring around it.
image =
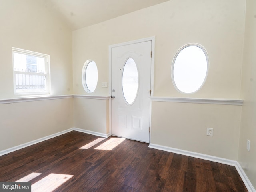
[[[73,127],[73,99],[0,104],[0,151]]]

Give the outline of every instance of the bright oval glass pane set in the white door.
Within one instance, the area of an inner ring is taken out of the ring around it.
[[[137,96],[138,92],[138,69],[135,61],[129,58],[124,64],[124,70],[122,74],[122,90],[124,99],[128,104],[132,104]]]

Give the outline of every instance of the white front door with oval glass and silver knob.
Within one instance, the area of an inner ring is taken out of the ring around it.
[[[111,48],[111,134],[149,142],[152,41]]]

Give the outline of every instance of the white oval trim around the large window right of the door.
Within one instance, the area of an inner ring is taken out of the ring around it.
[[[174,63],[176,61],[176,58],[178,56],[178,54],[186,47],[190,47],[190,46],[196,46],[196,47],[199,47],[200,49],[202,49],[202,51],[204,52],[204,55],[206,57],[206,65],[207,65],[207,68],[206,68],[206,75],[205,75],[205,78],[204,78],[204,81],[202,82],[201,86],[195,90],[194,92],[191,92],[191,93],[186,93],[186,92],[182,92],[177,86],[176,86],[176,83],[175,83],[175,80],[174,80]],[[173,60],[172,60],[172,68],[171,68],[171,77],[172,77],[172,84],[174,85],[175,89],[182,93],[182,94],[194,94],[196,92],[198,92],[202,86],[204,86],[204,83],[206,82],[206,79],[207,79],[207,76],[208,76],[208,72],[209,72],[209,56],[208,56],[208,53],[206,51],[206,49],[204,48],[204,46],[202,46],[201,44],[198,44],[198,43],[189,43],[189,44],[186,44],[184,46],[182,46],[181,48],[178,49],[178,51],[176,52]]]

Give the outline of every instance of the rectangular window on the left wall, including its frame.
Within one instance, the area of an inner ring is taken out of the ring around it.
[[[50,55],[12,48],[14,93],[50,94]]]

